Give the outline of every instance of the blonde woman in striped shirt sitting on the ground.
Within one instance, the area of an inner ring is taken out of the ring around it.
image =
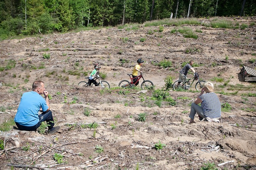
[[[195,123],[194,117],[196,113],[199,116],[199,120],[203,118],[218,120],[220,118],[221,104],[213,89],[212,82],[208,81],[204,83],[201,93],[196,97],[195,102],[191,104],[190,114],[188,116],[190,117],[189,124]],[[198,103],[201,103],[201,106],[198,106]]]

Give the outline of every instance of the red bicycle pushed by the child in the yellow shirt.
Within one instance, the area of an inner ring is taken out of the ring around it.
[[[143,79],[143,82],[142,82],[141,85],[140,85],[140,88],[141,88],[141,89],[151,89],[151,88],[154,86],[154,84],[153,84],[152,81],[150,81],[150,80],[144,80],[144,77],[143,77],[142,73],[140,73],[140,75],[137,76],[137,77],[135,77],[135,78],[133,78],[133,77],[131,76],[132,74],[127,74],[127,75],[130,76],[131,82],[128,81],[128,80],[122,80],[122,81],[120,81],[120,83],[118,84],[119,87],[122,87],[122,88],[134,87],[135,84],[136,84],[137,82],[139,82],[139,80],[140,80],[141,78]],[[135,79],[138,79],[138,80],[136,80],[135,82],[133,82]]]

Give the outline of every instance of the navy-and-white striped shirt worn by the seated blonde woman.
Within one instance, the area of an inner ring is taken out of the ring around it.
[[[206,93],[199,96],[202,100],[201,106],[204,110],[204,116],[210,118],[220,117],[221,104],[218,96],[215,93]]]

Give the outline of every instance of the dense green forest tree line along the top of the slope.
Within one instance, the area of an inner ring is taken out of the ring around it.
[[[0,0],[1,38],[186,17],[255,16],[256,0]]]

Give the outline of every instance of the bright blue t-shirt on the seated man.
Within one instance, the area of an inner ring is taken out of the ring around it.
[[[34,126],[39,122],[38,112],[48,109],[45,99],[35,91],[26,92],[20,99],[18,111],[14,117],[14,122],[23,126]]]

